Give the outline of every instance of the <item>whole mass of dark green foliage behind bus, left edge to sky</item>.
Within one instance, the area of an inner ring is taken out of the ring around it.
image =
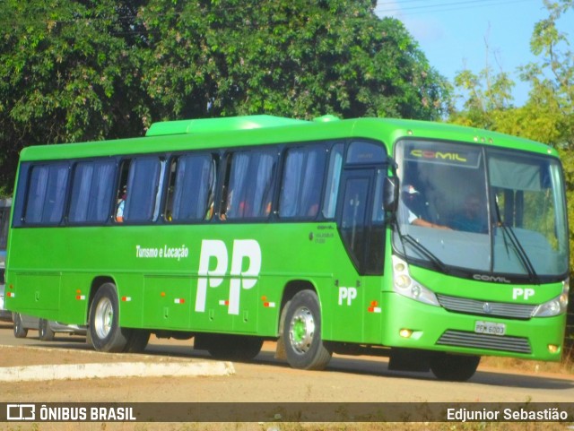
[[[448,85],[401,22],[359,0],[0,2],[0,185],[27,145],[161,119],[436,119]]]

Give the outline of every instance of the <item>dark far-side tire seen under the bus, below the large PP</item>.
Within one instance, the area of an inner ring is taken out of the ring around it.
[[[263,339],[243,335],[211,334],[206,342],[207,351],[213,358],[251,360],[263,347]]]

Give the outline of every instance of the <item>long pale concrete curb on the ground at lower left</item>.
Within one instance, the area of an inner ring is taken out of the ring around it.
[[[106,377],[194,377],[233,375],[231,362],[106,362],[97,364],[8,366],[0,368],[0,382],[90,379]]]

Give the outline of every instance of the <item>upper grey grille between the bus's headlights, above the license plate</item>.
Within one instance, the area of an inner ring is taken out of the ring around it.
[[[437,295],[439,304],[448,311],[466,313],[469,315],[496,315],[510,319],[529,319],[536,306],[525,304],[508,304],[504,302],[478,301],[464,297],[448,297]]]

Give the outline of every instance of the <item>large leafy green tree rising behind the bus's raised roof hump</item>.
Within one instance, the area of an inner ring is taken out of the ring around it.
[[[171,4],[152,0],[139,15],[145,84],[161,117],[432,119],[445,108],[446,81],[370,0]]]

